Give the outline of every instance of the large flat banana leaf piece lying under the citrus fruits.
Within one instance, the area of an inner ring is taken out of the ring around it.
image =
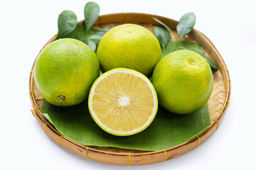
[[[41,112],[56,130],[85,146],[119,147],[156,151],[186,142],[210,125],[208,105],[189,115],[178,115],[159,106],[149,128],[136,135],[118,137],[103,131],[92,119],[87,101],[77,106],[58,107],[43,101]]]

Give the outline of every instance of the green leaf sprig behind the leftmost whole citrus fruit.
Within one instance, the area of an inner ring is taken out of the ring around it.
[[[97,28],[92,28],[92,26],[97,21],[100,14],[100,6],[90,1],[85,4],[84,16],[85,24],[78,23],[78,17],[73,11],[65,10],[58,16],[58,33],[56,35],[56,40],[60,38],[74,38],[85,42],[93,51],[96,52],[97,45],[99,44],[101,38],[108,30],[113,27],[104,28],[99,30]]]

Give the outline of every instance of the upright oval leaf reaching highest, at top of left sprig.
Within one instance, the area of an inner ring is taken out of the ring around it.
[[[85,15],[85,27],[86,30],[90,30],[93,24],[96,22],[100,14],[100,6],[90,1],[85,5],[84,15]]]

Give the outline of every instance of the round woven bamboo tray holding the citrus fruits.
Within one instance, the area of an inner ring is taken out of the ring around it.
[[[99,16],[94,27],[106,28],[109,26],[118,26],[124,23],[136,23],[144,26],[153,33],[154,26],[159,24],[156,23],[152,17],[158,18],[160,21],[169,26],[169,28],[174,30],[174,33],[176,33],[175,30],[178,23],[177,21],[170,18],[145,13],[112,13]],[[83,23],[83,21],[80,21],[80,23]],[[205,55],[215,60],[216,64],[218,65],[218,70],[213,72],[213,93],[208,101],[211,125],[203,133],[197,137],[194,137],[188,142],[184,142],[181,145],[177,145],[176,147],[171,147],[165,150],[145,152],[114,147],[86,147],[69,140],[67,137],[64,137],[57,130],[55,130],[53,125],[51,125],[41,114],[43,97],[38,93],[35,81],[33,79],[33,67],[36,60],[33,63],[29,77],[29,96],[33,106],[31,112],[38,121],[39,125],[41,125],[41,128],[43,128],[44,132],[46,132],[46,135],[48,135],[53,141],[82,157],[94,159],[98,162],[122,165],[153,164],[156,162],[164,162],[182,154],[186,154],[187,152],[201,145],[208,139],[208,137],[210,137],[210,135],[213,134],[213,132],[215,132],[215,130],[218,129],[230,101],[230,76],[227,65],[225,64],[223,58],[220,56],[218,50],[214,47],[213,42],[211,42],[206,35],[203,35],[203,33],[193,29],[191,33],[186,35],[184,39],[201,44],[205,50]],[[54,40],[55,36],[53,36],[53,38],[51,38],[44,47]]]

